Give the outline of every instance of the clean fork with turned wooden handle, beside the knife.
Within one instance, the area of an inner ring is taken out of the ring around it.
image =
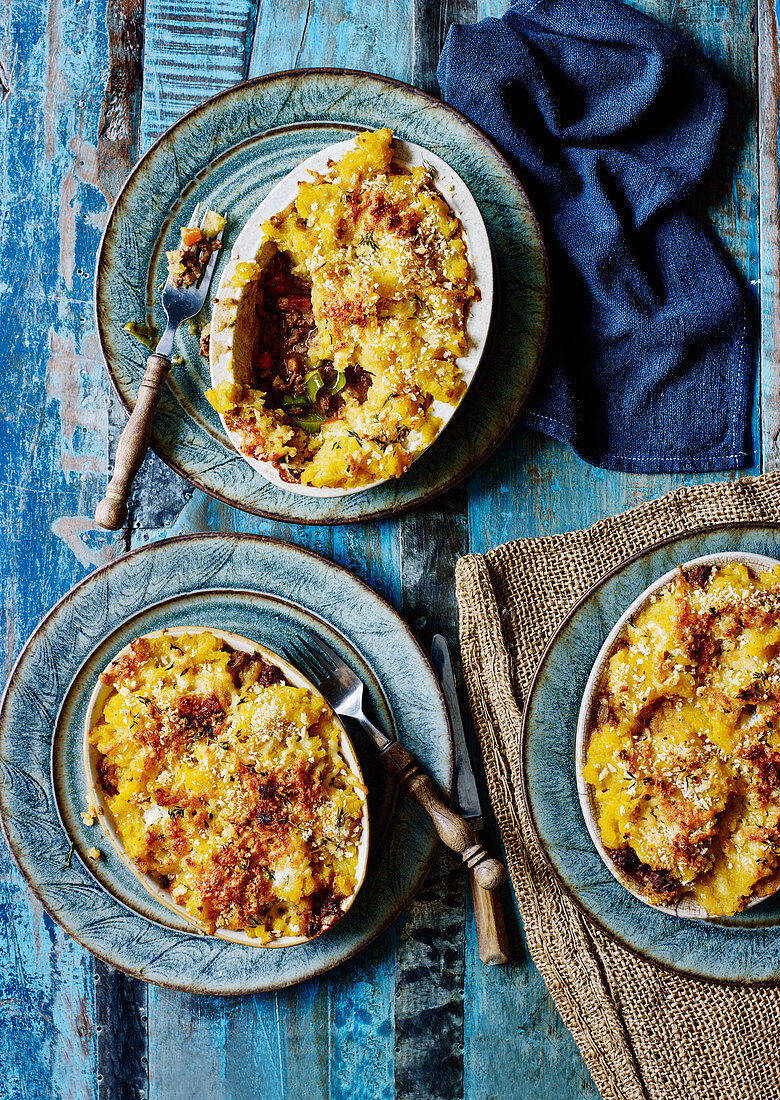
[[[502,864],[488,856],[469,823],[443,802],[430,776],[408,749],[370,722],[363,710],[363,681],[339,654],[319,638],[315,640],[300,636],[283,652],[308,675],[337,714],[354,719],[367,734],[380,750],[380,762],[387,774],[422,806],[441,840],[448,848],[460,853],[476,882],[485,890],[499,887],[506,878]]]

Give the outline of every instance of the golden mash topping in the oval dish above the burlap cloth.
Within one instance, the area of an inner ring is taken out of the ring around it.
[[[780,880],[780,566],[696,565],[609,659],[590,734],[602,840],[656,903],[739,912]]]

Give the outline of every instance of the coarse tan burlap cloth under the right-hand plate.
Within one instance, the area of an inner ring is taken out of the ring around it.
[[[604,1100],[780,1097],[780,989],[677,976],[580,914],[523,805],[521,701],[565,612],[609,569],[667,536],[745,519],[780,519],[780,474],[681,488],[458,563],[464,676],[528,948]]]

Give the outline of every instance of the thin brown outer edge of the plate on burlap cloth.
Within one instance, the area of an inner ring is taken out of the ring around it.
[[[724,986],[724,987],[729,988],[729,989],[746,989],[746,988],[761,988],[761,987],[762,988],[772,989],[772,988],[780,988],[780,974],[778,974],[778,977],[776,977],[776,978],[719,978],[719,977],[710,977],[710,976],[704,977],[703,975],[699,975],[699,974],[694,974],[694,972],[692,972],[690,970],[685,970],[682,967],[674,967],[674,966],[672,966],[669,963],[664,963],[664,961],[661,961],[659,959],[651,958],[650,956],[646,955],[639,947],[635,947],[633,944],[628,943],[622,936],[618,936],[617,933],[613,932],[612,928],[607,927],[607,925],[604,924],[604,922],[598,916],[595,916],[590,910],[587,910],[585,908],[585,905],[583,904],[583,902],[580,901],[580,899],[578,898],[578,895],[571,889],[571,887],[564,881],[563,877],[559,873],[558,868],[554,866],[554,864],[552,861],[552,858],[550,857],[550,855],[549,855],[549,853],[547,850],[547,847],[546,847],[546,845],[545,845],[545,843],[543,843],[543,840],[541,838],[541,834],[540,834],[539,827],[538,827],[538,825],[536,823],[536,817],[534,815],[534,810],[532,810],[530,796],[529,796],[529,793],[528,793],[528,778],[527,778],[527,767],[526,767],[526,759],[527,759],[527,752],[528,752],[528,715],[529,715],[529,710],[530,710],[529,708],[529,703],[530,703],[530,700],[531,700],[531,695],[534,694],[534,692],[537,689],[537,684],[538,684],[539,678],[541,675],[543,666],[545,666],[545,663],[546,663],[546,661],[547,661],[547,659],[548,659],[548,657],[549,657],[549,654],[550,654],[553,646],[558,641],[558,639],[559,639],[560,635],[563,632],[564,628],[571,623],[571,620],[574,618],[574,616],[576,615],[576,613],[580,610],[580,608],[601,587],[603,587],[604,584],[607,583],[607,581],[611,581],[622,570],[624,570],[628,565],[634,564],[634,562],[640,561],[642,558],[647,557],[650,553],[653,553],[656,550],[660,550],[663,547],[670,546],[672,542],[677,542],[680,539],[693,538],[693,537],[696,537],[696,536],[700,536],[700,535],[712,535],[712,534],[714,534],[716,531],[733,530],[735,527],[740,528],[740,529],[749,529],[749,528],[756,528],[756,527],[769,527],[769,528],[772,528],[773,530],[776,530],[778,532],[778,535],[780,535],[780,520],[771,520],[771,519],[767,519],[767,520],[751,520],[751,519],[725,520],[724,522],[719,522],[719,524],[703,524],[703,525],[697,526],[697,527],[685,528],[685,530],[683,530],[683,531],[679,531],[675,535],[668,535],[664,538],[659,539],[657,542],[652,542],[649,546],[645,547],[642,550],[638,550],[635,553],[629,554],[627,558],[624,558],[617,564],[613,565],[613,568],[609,569],[606,573],[602,574],[598,578],[598,580],[596,580],[593,584],[591,584],[586,588],[586,591],[582,593],[582,595],[578,598],[578,601],[574,604],[572,604],[571,607],[569,607],[569,609],[567,610],[564,617],[561,619],[561,622],[556,627],[556,630],[552,634],[550,640],[545,646],[541,654],[539,656],[539,659],[538,659],[538,661],[536,663],[536,667],[534,669],[534,675],[531,676],[530,683],[528,685],[528,690],[525,693],[525,705],[523,707],[523,718],[521,718],[521,722],[520,722],[520,745],[519,745],[520,794],[521,794],[521,798],[523,798],[523,804],[524,804],[526,814],[528,816],[528,821],[529,821],[530,826],[531,826],[531,831],[534,833],[534,838],[535,838],[535,840],[536,840],[536,843],[537,843],[537,845],[539,847],[539,850],[541,853],[542,859],[545,861],[545,866],[548,868],[549,871],[551,871],[551,873],[553,875],[553,877],[556,879],[556,882],[558,883],[558,886],[560,887],[560,889],[563,891],[563,893],[565,894],[565,897],[571,902],[573,902],[574,906],[576,908],[576,911],[578,911],[579,915],[581,917],[585,917],[587,921],[591,921],[593,924],[595,924],[595,926],[598,928],[598,931],[603,935],[605,935],[609,941],[612,941],[612,943],[617,944],[619,947],[623,947],[626,950],[630,952],[631,955],[634,955],[636,958],[641,959],[642,963],[647,963],[647,964],[649,964],[651,966],[657,966],[661,970],[666,971],[667,974],[674,975],[677,978],[684,978],[688,981],[696,981],[696,982],[701,982],[703,985]],[[578,809],[579,809],[579,803],[578,803]],[[717,923],[717,922],[710,922],[710,923]],[[780,930],[779,930],[779,932],[780,932]]]

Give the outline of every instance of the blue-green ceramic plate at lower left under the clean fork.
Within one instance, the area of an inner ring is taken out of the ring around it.
[[[99,672],[129,641],[171,626],[216,626],[282,649],[308,628],[363,679],[375,721],[451,789],[444,703],[395,612],[347,570],[255,536],[205,535],[144,547],[92,573],[22,651],[0,708],[0,816],[17,862],[50,914],[95,955],[138,978],[197,993],[277,989],[338,966],[408,903],[436,851],[415,803],[394,798],[374,752],[350,735],[371,813],[369,870],[330,932],[265,950],[193,934],[86,826],[85,708]],[[99,861],[87,853],[97,846]]]

